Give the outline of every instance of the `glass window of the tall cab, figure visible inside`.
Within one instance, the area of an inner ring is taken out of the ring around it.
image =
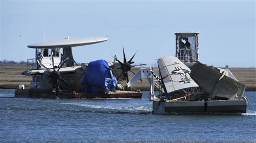
[[[183,62],[195,62],[197,60],[196,35],[179,35],[179,59]]]

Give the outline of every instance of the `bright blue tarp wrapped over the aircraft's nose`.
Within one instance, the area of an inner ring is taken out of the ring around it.
[[[99,94],[105,90],[115,90],[117,79],[105,60],[97,60],[87,66],[83,85],[85,93]]]

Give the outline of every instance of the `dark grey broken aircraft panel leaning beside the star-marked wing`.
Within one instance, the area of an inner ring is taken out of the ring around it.
[[[211,99],[241,98],[245,85],[232,78],[233,75],[228,77],[219,71],[197,62],[191,68],[190,75]]]

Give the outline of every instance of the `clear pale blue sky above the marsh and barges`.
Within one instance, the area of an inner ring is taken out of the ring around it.
[[[4,1],[0,0],[0,60],[26,61],[26,46],[69,37],[108,37],[73,47],[77,62],[134,57],[156,65],[175,55],[176,32],[199,32],[199,61],[256,67],[255,1]],[[45,33],[45,34],[44,34]],[[21,35],[21,36],[20,36]]]

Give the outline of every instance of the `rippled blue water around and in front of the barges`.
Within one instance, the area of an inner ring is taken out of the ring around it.
[[[152,115],[141,99],[13,98],[0,89],[0,142],[256,141],[256,92],[247,113]]]

